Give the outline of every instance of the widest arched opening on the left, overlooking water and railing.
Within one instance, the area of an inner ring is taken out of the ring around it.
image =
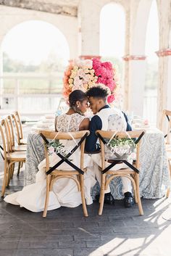
[[[64,68],[70,59],[62,32],[41,20],[22,22],[9,30],[1,50],[6,75],[1,108],[54,112],[62,93]]]

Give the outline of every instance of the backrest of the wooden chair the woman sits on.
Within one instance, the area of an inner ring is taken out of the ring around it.
[[[77,131],[77,132],[71,132],[71,133],[62,133],[62,132],[55,132],[55,131],[39,131],[39,134],[42,136],[44,140],[44,145],[45,145],[45,155],[46,155],[46,171],[49,170],[49,152],[48,152],[48,146],[46,144],[46,140],[83,140],[83,142],[79,145],[80,146],[80,169],[83,170],[83,160],[84,160],[84,147],[85,147],[85,142],[86,142],[86,137],[89,135],[89,131]],[[76,145],[76,144],[75,144]],[[78,147],[79,147],[78,146]],[[74,148],[75,146],[73,146]],[[72,149],[73,149],[72,148]],[[69,154],[72,154],[72,149]],[[64,151],[64,150],[63,150]],[[70,160],[70,157],[69,157]],[[59,167],[60,168],[60,167]]]

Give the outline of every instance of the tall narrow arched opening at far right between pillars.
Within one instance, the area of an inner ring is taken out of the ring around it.
[[[157,84],[158,57],[155,51],[159,49],[159,20],[157,3],[152,1],[149,21],[146,30],[146,83],[143,102],[143,117],[151,123],[157,121]]]

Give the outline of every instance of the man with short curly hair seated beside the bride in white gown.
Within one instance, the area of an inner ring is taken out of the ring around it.
[[[92,158],[94,162],[94,171],[99,184],[101,183],[101,173],[99,172],[98,163],[100,162],[100,154],[99,153],[100,146],[97,144],[98,137],[96,136],[96,130],[115,130],[115,131],[131,131],[132,128],[128,123],[128,118],[126,115],[118,110],[117,108],[110,108],[107,104],[107,96],[108,91],[107,88],[103,88],[101,86],[92,87],[87,91],[88,101],[90,103],[91,110],[94,116],[91,118],[90,122],[90,135],[86,139],[86,152],[93,153]],[[112,123],[112,127],[109,127],[109,117],[115,116],[115,122]],[[115,165],[116,170],[120,168],[124,168],[124,164]],[[131,182],[128,178],[122,177],[122,186],[123,186],[123,194],[124,194],[124,205],[125,207],[132,207],[134,200],[132,196],[132,186]],[[108,186],[109,187],[109,186]],[[114,204],[114,198],[110,193],[110,189],[108,188],[105,191],[106,194],[104,196],[104,202],[107,204]],[[99,196],[97,196],[98,199]]]

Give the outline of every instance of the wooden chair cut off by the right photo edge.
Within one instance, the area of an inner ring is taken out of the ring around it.
[[[166,129],[164,129],[166,128]],[[163,110],[162,115],[162,131],[164,132],[164,138],[165,138],[165,145],[166,145],[166,151],[167,151],[167,160],[168,165],[170,169],[170,177],[171,177],[171,110]],[[167,131],[167,132],[165,132]],[[167,195],[166,197],[170,196],[170,188],[167,189]]]

